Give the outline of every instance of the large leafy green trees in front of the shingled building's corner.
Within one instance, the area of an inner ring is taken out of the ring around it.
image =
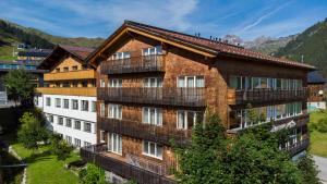
[[[174,148],[179,183],[306,184],[300,167],[279,149],[290,130],[271,132],[272,124],[265,123],[229,138],[217,114],[206,116],[195,125],[192,143]],[[253,120],[261,121],[255,115]]]

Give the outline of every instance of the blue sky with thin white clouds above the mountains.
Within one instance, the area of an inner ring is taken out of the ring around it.
[[[65,37],[108,37],[123,20],[245,40],[296,34],[327,17],[327,0],[0,0],[0,17]]]

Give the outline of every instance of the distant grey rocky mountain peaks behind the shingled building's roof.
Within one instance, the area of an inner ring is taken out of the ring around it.
[[[276,52],[279,48],[284,47],[289,41],[296,38],[298,35],[291,35],[280,38],[271,38],[267,36],[261,36],[254,40],[244,41],[237,35],[226,35],[222,39],[233,45],[241,45],[247,49],[259,51],[266,54]]]

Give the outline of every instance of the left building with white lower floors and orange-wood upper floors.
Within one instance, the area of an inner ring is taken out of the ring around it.
[[[38,66],[49,73],[35,105],[45,112],[48,127],[77,148],[96,144],[96,71],[84,63],[92,50],[57,46]]]

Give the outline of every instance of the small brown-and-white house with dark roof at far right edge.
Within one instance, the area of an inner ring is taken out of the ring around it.
[[[314,71],[307,74],[307,109],[310,111],[326,109],[325,83],[325,78],[318,72]]]

